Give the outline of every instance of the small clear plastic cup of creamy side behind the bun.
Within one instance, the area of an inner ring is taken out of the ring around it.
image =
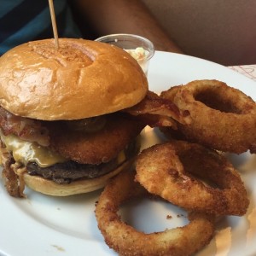
[[[96,38],[96,41],[113,44],[125,49],[137,60],[147,75],[149,61],[154,55],[154,44],[147,38],[133,34],[111,34]]]

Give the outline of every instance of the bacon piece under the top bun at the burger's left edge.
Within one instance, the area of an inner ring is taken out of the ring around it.
[[[4,135],[15,134],[28,142],[49,146],[48,130],[40,120],[20,117],[0,107],[0,126]]]

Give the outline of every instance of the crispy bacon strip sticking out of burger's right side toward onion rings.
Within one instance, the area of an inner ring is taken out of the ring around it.
[[[148,91],[142,102],[131,108],[125,108],[126,113],[148,119],[150,126],[176,126],[174,120],[181,124],[189,124],[191,119],[188,111],[180,111],[177,106],[161,98],[152,91]]]

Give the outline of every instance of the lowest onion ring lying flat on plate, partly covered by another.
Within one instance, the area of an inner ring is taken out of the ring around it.
[[[134,182],[135,172],[121,172],[108,183],[96,205],[96,219],[109,247],[119,255],[185,256],[207,245],[214,233],[214,218],[205,213],[189,213],[189,224],[172,230],[144,234],[125,224],[119,205],[133,197],[148,195]]]

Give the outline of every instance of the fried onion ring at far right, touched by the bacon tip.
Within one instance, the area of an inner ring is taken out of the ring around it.
[[[196,80],[161,96],[189,111],[191,123],[177,124],[177,130],[190,142],[224,152],[256,153],[256,104],[240,90],[217,80]]]

